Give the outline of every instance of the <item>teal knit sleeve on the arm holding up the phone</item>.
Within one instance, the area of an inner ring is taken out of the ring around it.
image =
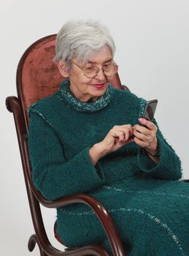
[[[154,121],[154,123],[158,127],[157,122]],[[159,128],[157,139],[160,148],[159,162],[157,164],[153,162],[147,152],[143,148],[139,148],[137,158],[140,169],[154,177],[171,180],[180,179],[182,177],[180,158],[169,143],[166,142],[165,138],[163,138]]]

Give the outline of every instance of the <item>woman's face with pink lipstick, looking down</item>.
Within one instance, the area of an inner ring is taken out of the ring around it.
[[[96,101],[107,89],[107,79],[101,68],[112,61],[112,52],[107,45],[99,52],[93,53],[88,62],[77,62],[77,58],[72,59],[72,67],[69,71],[70,91],[74,97],[81,102]],[[95,78],[87,78],[81,68],[99,67],[99,72]]]

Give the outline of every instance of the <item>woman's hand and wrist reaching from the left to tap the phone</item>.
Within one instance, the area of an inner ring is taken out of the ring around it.
[[[131,135],[133,135],[131,124],[115,125],[115,127],[110,129],[104,140],[90,148],[89,154],[93,164],[96,165],[96,162],[101,157],[133,141]]]

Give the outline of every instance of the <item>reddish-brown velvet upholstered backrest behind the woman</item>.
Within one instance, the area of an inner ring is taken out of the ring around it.
[[[17,91],[26,127],[28,127],[28,106],[58,91],[61,82],[65,79],[53,62],[55,37],[56,34],[53,34],[34,42],[23,53],[18,64]],[[117,74],[109,78],[109,83],[112,83],[117,89],[121,89],[120,78]]]

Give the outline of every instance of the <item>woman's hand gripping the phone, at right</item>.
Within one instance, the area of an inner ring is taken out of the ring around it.
[[[139,118],[139,122],[143,124],[144,127],[139,124],[134,125],[134,142],[142,148],[145,148],[148,153],[153,154],[158,147],[158,140],[156,138],[158,128],[152,121],[147,121],[145,118]]]

